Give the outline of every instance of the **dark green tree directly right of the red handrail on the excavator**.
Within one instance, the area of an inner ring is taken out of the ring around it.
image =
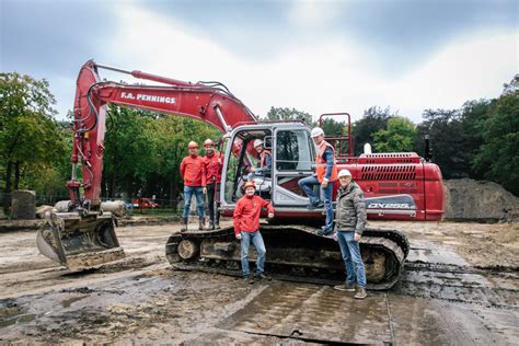
[[[351,125],[351,135],[354,137],[354,154],[364,151],[365,143],[374,141],[373,134],[384,129],[388,126],[390,117],[395,116],[390,108],[382,109],[377,106],[369,107],[364,112],[362,118]]]

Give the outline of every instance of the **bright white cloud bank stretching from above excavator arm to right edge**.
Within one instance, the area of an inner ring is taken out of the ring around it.
[[[247,59],[171,16],[129,4],[114,15],[119,30],[106,41],[100,62],[186,81],[218,80],[261,115],[270,106],[289,106],[315,116],[346,111],[358,119],[364,109],[380,105],[418,123],[425,108],[497,96],[517,72],[515,33],[465,37],[389,80],[377,73],[380,57],[344,37],[295,39],[276,58],[261,60],[251,53]]]

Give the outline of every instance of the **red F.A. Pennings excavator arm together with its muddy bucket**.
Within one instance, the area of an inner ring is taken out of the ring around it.
[[[102,80],[99,69],[131,74],[158,85],[128,85]],[[122,204],[101,203],[101,177],[108,104],[184,116],[230,132],[239,124],[256,124],[254,114],[219,82],[188,83],[126,71],[86,61],[77,80],[73,108],[72,174],[67,187],[70,201],[46,218],[38,232],[39,252],[71,270],[82,270],[125,256],[115,234]],[[77,171],[82,170],[82,180]]]

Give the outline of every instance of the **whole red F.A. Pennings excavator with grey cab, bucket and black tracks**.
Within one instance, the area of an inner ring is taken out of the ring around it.
[[[102,80],[99,69],[131,74],[162,85],[129,85]],[[141,71],[126,71],[88,61],[77,81],[73,109],[72,175],[67,182],[70,201],[47,218],[37,235],[42,254],[71,270],[124,257],[115,235],[118,206],[101,201],[105,115],[108,104],[195,118],[223,132],[224,153],[218,205],[232,216],[250,168],[257,163],[256,139],[273,153],[270,172],[255,176],[257,194],[272,201],[274,220],[262,226],[268,249],[267,270],[275,277],[330,282],[343,275],[338,245],[314,233],[323,223],[322,209],[308,210],[309,200],[298,181],[313,174],[315,148],[302,122],[263,122],[219,82],[189,83]],[[416,153],[353,154],[350,118],[347,135],[327,138],[336,148],[338,169],[348,169],[364,189],[368,217],[385,220],[439,220],[443,188],[439,168]],[[80,165],[80,166],[79,166]],[[81,169],[82,177],[77,175]],[[338,184],[334,186],[334,195]],[[62,204],[61,204],[62,205]],[[388,289],[400,278],[408,253],[405,235],[368,227],[360,241],[368,288]],[[240,244],[232,227],[174,233],[165,245],[170,263],[184,269],[239,274]],[[254,255],[251,256],[254,260]]]

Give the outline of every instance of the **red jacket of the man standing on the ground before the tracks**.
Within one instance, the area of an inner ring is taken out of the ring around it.
[[[274,212],[273,206],[260,196],[243,196],[240,198],[232,216],[234,234],[240,234],[240,231],[249,233],[257,231],[262,208],[267,208],[268,212]]]

